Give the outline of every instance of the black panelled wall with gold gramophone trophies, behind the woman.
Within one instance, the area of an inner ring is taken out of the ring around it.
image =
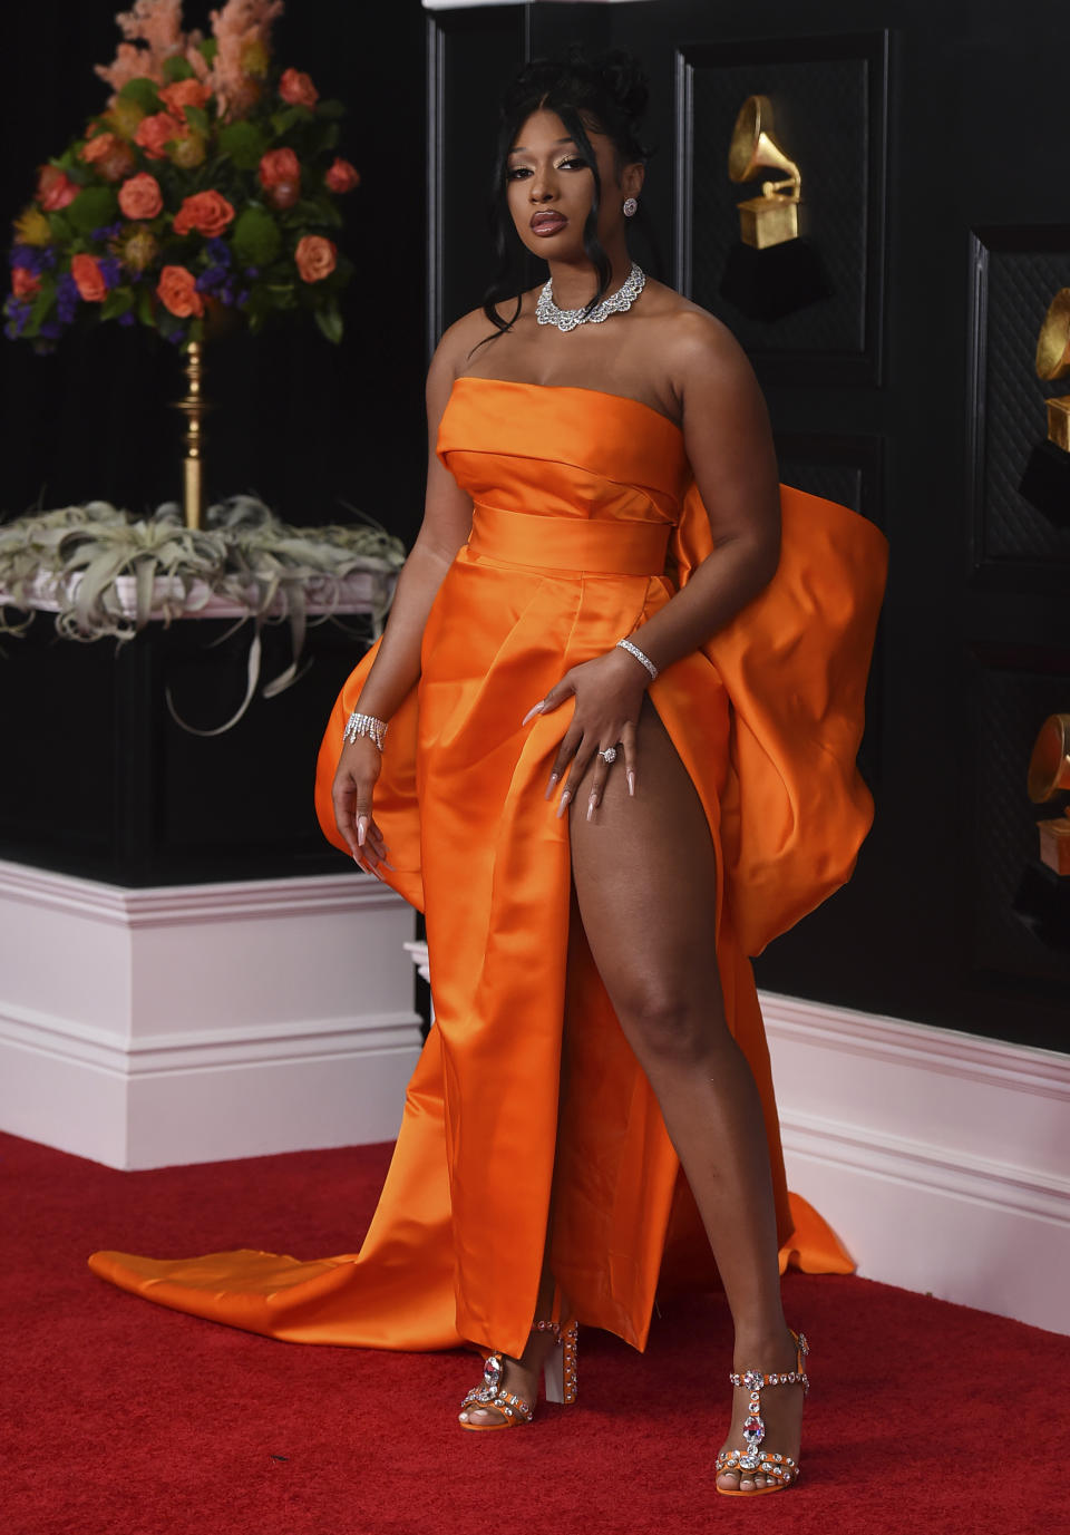
[[[1070,494],[1058,527],[1018,491],[1045,430],[1036,332],[1070,286],[1065,8],[536,3],[438,12],[428,32],[445,146],[490,143],[487,86],[531,54],[571,37],[640,54],[657,146],[643,203],[671,278],[748,347],[781,476],[890,537],[861,754],[875,827],[847,889],[771,946],[758,979],[1065,1050],[1067,881],[1059,901],[1038,864],[1025,766],[1044,717],[1070,709]],[[743,195],[728,137],[751,92],[774,98],[800,158],[803,230],[831,278],[783,324],[718,289]],[[441,324],[479,296],[462,233],[479,181],[468,160],[431,169]]]

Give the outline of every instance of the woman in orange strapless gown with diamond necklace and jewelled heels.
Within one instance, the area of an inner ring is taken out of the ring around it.
[[[507,100],[502,209],[550,282],[436,352],[424,525],[321,748],[324,830],[425,910],[436,1007],[367,1239],[91,1263],[287,1340],[490,1349],[461,1423],[497,1429],[543,1365],[571,1400],[577,1320],[642,1349],[659,1283],[715,1259],[717,1487],[755,1495],[798,1474],[781,1265],[850,1260],[789,1205],[748,955],[869,827],[886,548],[777,487],[738,345],[632,266],[643,95],[571,61]]]

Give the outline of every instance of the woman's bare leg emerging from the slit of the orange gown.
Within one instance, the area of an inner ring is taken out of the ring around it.
[[[636,797],[619,761],[589,821],[586,801],[585,783],[570,812],[583,932],[694,1191],[732,1312],[735,1368],[794,1369],[761,1102],[728,1032],[712,946],[714,844],[649,700],[639,721]],[[729,1443],[741,1444],[746,1392],[734,1395]],[[761,1398],[765,1448],[795,1460],[801,1398],[795,1388]],[[765,1480],[718,1478],[745,1490]]]

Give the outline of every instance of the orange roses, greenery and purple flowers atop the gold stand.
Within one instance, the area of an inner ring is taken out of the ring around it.
[[[183,31],[181,0],[135,0],[97,74],[103,112],[40,167],[14,224],[5,333],[38,352],[84,319],[201,341],[227,315],[258,330],[310,313],[342,336],[352,275],[332,235],[359,183],[336,155],[339,101],[272,61],[282,0],[226,0],[212,35]]]

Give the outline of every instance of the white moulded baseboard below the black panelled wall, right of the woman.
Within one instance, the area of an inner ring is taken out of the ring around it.
[[[1070,1332],[1070,1058],[761,995],[788,1179],[906,1289]]]

